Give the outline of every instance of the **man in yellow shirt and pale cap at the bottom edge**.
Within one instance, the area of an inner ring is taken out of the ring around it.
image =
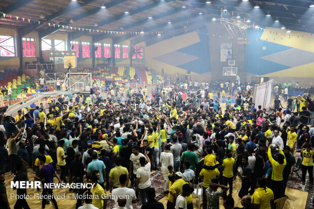
[[[182,193],[182,187],[184,184],[189,184],[191,189],[193,189],[192,183],[186,182],[185,180],[182,179],[181,172],[176,172],[175,178],[177,179],[177,181],[175,181],[169,189],[169,193],[173,195],[173,202],[176,202],[177,197]],[[193,208],[192,196],[191,195],[186,196],[185,199],[187,208]]]

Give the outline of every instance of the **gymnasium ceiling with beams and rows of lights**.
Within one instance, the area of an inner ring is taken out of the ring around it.
[[[42,37],[48,34],[72,33],[75,36],[93,35],[96,32],[83,32],[69,28],[50,27],[33,21],[21,21],[12,16],[50,22],[51,24],[95,30],[114,30],[125,32],[152,32],[174,30],[197,30],[205,22],[240,16],[241,21],[259,27],[278,27],[314,33],[314,4],[310,0],[2,0],[0,11],[6,17],[0,18],[0,27],[19,28],[20,35],[33,30],[40,31]],[[258,5],[259,8],[254,8]],[[104,8],[105,6],[106,8]],[[226,9],[227,12],[223,12]],[[129,12],[126,14],[125,12]],[[203,13],[203,14],[199,14]],[[266,16],[269,13],[270,16]],[[149,18],[152,17],[152,18]],[[275,22],[278,19],[279,22]],[[168,23],[168,22],[171,22]],[[176,32],[177,31],[177,32]]]

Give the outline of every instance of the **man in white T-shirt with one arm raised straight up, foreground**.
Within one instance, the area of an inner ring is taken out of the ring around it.
[[[150,159],[145,150],[145,157],[140,157],[141,167],[136,172],[136,190],[141,193],[142,203],[147,201],[146,189],[150,188]],[[147,162],[147,163],[146,163]]]

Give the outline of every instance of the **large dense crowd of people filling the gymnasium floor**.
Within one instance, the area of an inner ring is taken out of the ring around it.
[[[49,98],[46,108],[34,103],[24,107],[15,117],[1,108],[0,181],[5,181],[8,160],[13,181],[52,183],[56,177],[63,183],[94,183],[90,190],[72,192],[100,198],[77,198],[75,208],[106,208],[106,191],[129,195],[114,199],[117,208],[132,209],[137,201],[142,208],[164,208],[150,178],[160,170],[168,209],[193,208],[191,193],[200,183],[203,208],[219,208],[222,196],[223,206],[231,209],[237,178],[243,208],[271,208],[274,200],[286,196],[295,152],[300,152],[302,184],[308,172],[312,185],[314,133],[308,124],[313,122],[314,98],[278,94],[268,111],[253,103],[250,85],[234,88],[233,82],[221,82],[213,89],[196,83],[158,85],[149,91],[116,86],[107,98],[97,91],[66,94]],[[229,93],[234,100],[226,97]],[[284,108],[281,100],[287,101]],[[0,192],[0,205],[10,208],[4,184]],[[27,191],[18,188],[17,193]],[[17,200],[14,208],[30,208],[27,201]],[[58,208],[54,198],[43,198],[42,208],[50,202]]]

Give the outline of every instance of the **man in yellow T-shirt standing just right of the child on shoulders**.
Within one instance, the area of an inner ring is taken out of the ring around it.
[[[223,176],[223,184],[228,186],[229,184],[229,195],[232,194],[232,186],[233,186],[233,165],[235,159],[232,157],[232,152],[230,149],[226,151],[227,158],[222,161],[222,176]]]

